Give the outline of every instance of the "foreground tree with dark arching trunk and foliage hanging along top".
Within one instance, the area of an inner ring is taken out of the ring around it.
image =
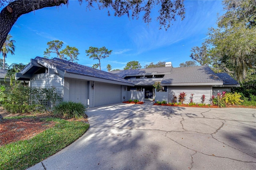
[[[114,16],[127,15],[128,18],[138,19],[140,14],[143,14],[143,22],[149,24],[152,21],[150,16],[152,9],[158,8],[159,16],[156,20],[160,24],[160,29],[163,27],[166,30],[176,20],[176,16],[180,16],[183,20],[185,17],[184,0],[78,0],[80,4],[86,2],[86,9],[97,7],[99,10],[105,9],[108,15],[113,11]],[[1,1],[0,1],[1,2]],[[9,3],[9,4],[8,4]],[[7,6],[5,6],[8,4]],[[18,18],[34,10],[60,6],[68,4],[68,0],[3,0],[0,3],[2,8],[0,14],[0,47],[6,40],[7,34],[10,32],[14,23]]]

